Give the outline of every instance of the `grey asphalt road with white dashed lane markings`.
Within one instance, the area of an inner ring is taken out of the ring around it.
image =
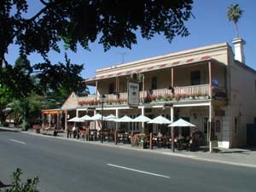
[[[256,169],[0,131],[0,180],[39,177],[43,191],[256,191]]]

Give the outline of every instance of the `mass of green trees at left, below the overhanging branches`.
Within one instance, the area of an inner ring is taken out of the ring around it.
[[[73,91],[89,92],[79,75],[84,65],[72,64],[65,55],[66,63],[52,65],[49,62],[30,66],[26,57],[19,57],[15,66],[2,68],[0,75],[0,119],[5,121],[8,106],[15,113],[15,122],[27,129],[40,118],[42,109],[60,108]],[[37,73],[32,73],[36,70]]]

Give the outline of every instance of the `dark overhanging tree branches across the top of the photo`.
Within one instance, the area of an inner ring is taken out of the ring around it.
[[[89,43],[131,48],[137,44],[136,31],[150,39],[155,33],[172,38],[188,36],[184,21],[189,20],[193,0],[39,0],[39,9],[28,15],[26,0],[0,2],[0,68],[10,44],[20,47],[20,55],[38,52],[47,58],[50,49],[60,52],[58,42],[76,51],[77,44]]]

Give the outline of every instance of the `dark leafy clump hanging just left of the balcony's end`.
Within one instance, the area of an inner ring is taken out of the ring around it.
[[[84,79],[79,74],[84,69],[84,64],[73,64],[67,55],[66,63],[55,65],[49,62],[38,63],[34,66],[39,73],[35,75],[38,95],[47,96],[51,100],[63,103],[73,91],[87,92]]]

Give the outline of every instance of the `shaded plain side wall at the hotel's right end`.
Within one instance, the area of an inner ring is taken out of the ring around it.
[[[231,147],[247,142],[246,125],[256,117],[256,73],[243,64],[230,63],[230,129]],[[238,132],[234,131],[235,117],[239,117]]]

